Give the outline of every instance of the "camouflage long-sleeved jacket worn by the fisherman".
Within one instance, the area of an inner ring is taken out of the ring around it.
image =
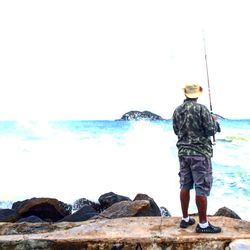
[[[173,114],[173,129],[178,136],[178,155],[213,156],[210,137],[220,132],[206,106],[196,100],[186,99]]]

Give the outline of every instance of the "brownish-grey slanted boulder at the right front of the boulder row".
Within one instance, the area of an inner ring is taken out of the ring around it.
[[[115,203],[111,207],[104,210],[95,219],[115,219],[123,217],[133,217],[138,216],[138,214],[143,213],[144,210],[149,210],[150,202],[146,200],[138,201],[120,201]]]

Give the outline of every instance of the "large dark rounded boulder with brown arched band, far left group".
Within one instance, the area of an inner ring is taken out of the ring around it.
[[[22,218],[34,215],[44,221],[56,222],[71,214],[72,206],[57,199],[32,198],[13,203],[12,209]]]

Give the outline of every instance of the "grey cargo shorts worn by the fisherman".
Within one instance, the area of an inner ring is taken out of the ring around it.
[[[211,159],[205,156],[179,156],[180,185],[184,189],[195,187],[196,195],[209,196],[212,188]]]

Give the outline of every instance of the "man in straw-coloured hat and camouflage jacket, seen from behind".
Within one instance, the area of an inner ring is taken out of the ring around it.
[[[173,114],[173,130],[178,137],[177,148],[180,163],[180,201],[182,209],[181,228],[195,224],[188,215],[190,190],[195,187],[195,201],[199,213],[197,233],[219,233],[220,227],[207,220],[207,196],[212,187],[213,148],[210,137],[220,132],[216,116],[206,106],[197,102],[202,93],[198,84],[184,86],[186,99]]]

